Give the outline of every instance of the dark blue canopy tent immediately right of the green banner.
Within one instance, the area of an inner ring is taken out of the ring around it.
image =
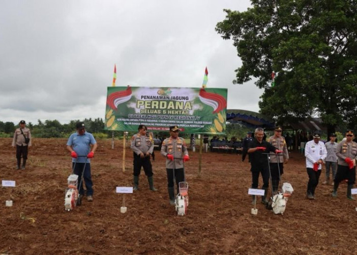
[[[231,123],[240,123],[251,128],[274,127],[274,121],[263,114],[239,109],[227,109],[226,120]]]

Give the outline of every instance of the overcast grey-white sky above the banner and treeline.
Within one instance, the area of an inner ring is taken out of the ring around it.
[[[241,65],[215,31],[249,0],[12,0],[0,9],[0,121],[105,116],[107,87],[228,89],[228,109],[259,111],[262,90],[233,85]]]

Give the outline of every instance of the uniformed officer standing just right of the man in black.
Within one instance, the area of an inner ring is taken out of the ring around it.
[[[274,130],[274,135],[269,137],[267,142],[273,145],[278,150],[282,150],[283,154],[280,155],[273,155],[273,152],[270,156],[269,166],[271,171],[271,184],[273,186],[273,193],[277,194],[277,190],[279,187],[280,178],[284,171],[283,171],[283,163],[288,163],[289,160],[289,152],[288,146],[286,144],[285,138],[282,136],[282,128],[280,126],[276,126]],[[280,170],[280,174],[279,174]]]

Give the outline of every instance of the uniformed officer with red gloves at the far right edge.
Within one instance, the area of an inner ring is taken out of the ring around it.
[[[334,180],[333,197],[337,197],[337,189],[343,180],[348,180],[347,198],[354,200],[351,194],[351,189],[356,179],[356,158],[357,158],[357,143],[352,141],[353,131],[346,132],[346,140],[342,140],[336,149],[338,157],[337,173]]]

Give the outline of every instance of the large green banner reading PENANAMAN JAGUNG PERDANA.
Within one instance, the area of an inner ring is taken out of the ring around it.
[[[108,87],[105,130],[168,131],[178,125],[191,134],[225,134],[227,89]]]

